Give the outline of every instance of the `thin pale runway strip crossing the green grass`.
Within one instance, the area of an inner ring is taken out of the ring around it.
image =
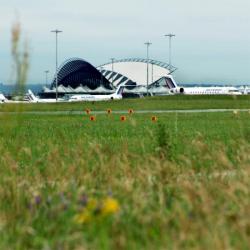
[[[134,114],[171,114],[171,113],[225,113],[225,112],[249,112],[250,109],[188,109],[188,110],[134,110]],[[21,111],[21,112],[0,112],[4,114],[25,114],[25,115],[84,115],[85,111]],[[93,115],[104,115],[107,111],[91,111]],[[128,110],[114,110],[112,114],[128,114]]]

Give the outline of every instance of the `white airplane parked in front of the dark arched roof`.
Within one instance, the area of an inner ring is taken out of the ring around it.
[[[125,86],[119,86],[114,94],[108,95],[73,95],[69,98],[69,102],[83,102],[83,101],[108,101],[122,99],[122,92]]]

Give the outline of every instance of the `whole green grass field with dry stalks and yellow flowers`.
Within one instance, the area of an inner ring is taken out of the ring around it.
[[[171,98],[93,110],[250,107]],[[0,249],[249,249],[250,113],[153,115],[1,113]]]

